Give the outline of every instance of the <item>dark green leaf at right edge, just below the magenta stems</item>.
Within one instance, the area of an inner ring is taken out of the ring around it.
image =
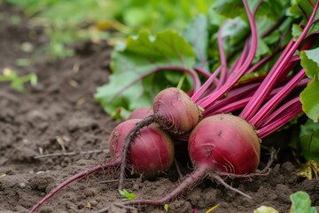
[[[307,120],[300,126],[301,154],[307,160],[319,162],[319,123]]]

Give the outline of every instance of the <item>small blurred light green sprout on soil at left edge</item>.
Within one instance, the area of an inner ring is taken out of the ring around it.
[[[34,73],[19,76],[15,71],[10,68],[4,68],[3,75],[0,75],[0,83],[8,82],[12,89],[16,91],[25,91],[25,83],[31,83],[31,85],[36,85],[37,76]]]

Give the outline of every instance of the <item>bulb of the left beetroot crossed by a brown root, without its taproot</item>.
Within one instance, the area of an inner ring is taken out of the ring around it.
[[[128,132],[140,119],[121,122],[109,138],[111,157],[120,159]],[[166,132],[156,124],[142,128],[128,149],[128,167],[145,177],[154,177],[168,170],[174,162],[174,146]]]

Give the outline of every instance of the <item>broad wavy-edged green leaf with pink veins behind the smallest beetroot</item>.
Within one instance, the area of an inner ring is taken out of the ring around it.
[[[114,118],[126,118],[140,106],[151,106],[153,97],[168,86],[176,86],[180,71],[195,64],[195,53],[182,36],[167,30],[151,36],[146,30],[129,36],[113,51],[109,82],[97,88],[95,98]],[[170,72],[157,72],[167,70]],[[189,81],[190,82],[190,81]],[[192,83],[186,83],[190,90]]]

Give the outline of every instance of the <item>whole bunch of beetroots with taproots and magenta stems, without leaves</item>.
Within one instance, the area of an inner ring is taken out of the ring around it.
[[[159,92],[152,108],[138,109],[127,121],[115,127],[109,138],[110,162],[70,177],[47,194],[31,212],[64,186],[97,170],[121,166],[120,189],[127,169],[145,177],[157,176],[174,162],[175,140],[183,140],[188,145],[194,171],[159,201],[126,201],[122,204],[164,205],[204,177],[215,177],[216,173],[244,177],[255,173],[260,162],[261,139],[302,112],[299,92],[309,79],[295,53],[310,48],[317,37],[316,34],[309,35],[308,31],[316,21],[318,2],[313,5],[314,10],[298,39],[278,47],[283,51],[268,74],[250,77],[245,82],[240,81],[243,75],[255,72],[273,59],[277,51],[252,65],[258,43],[254,15],[261,2],[253,12],[245,0],[243,3],[251,36],[230,67],[221,42],[221,66],[208,76],[206,83],[187,93],[177,88]]]

